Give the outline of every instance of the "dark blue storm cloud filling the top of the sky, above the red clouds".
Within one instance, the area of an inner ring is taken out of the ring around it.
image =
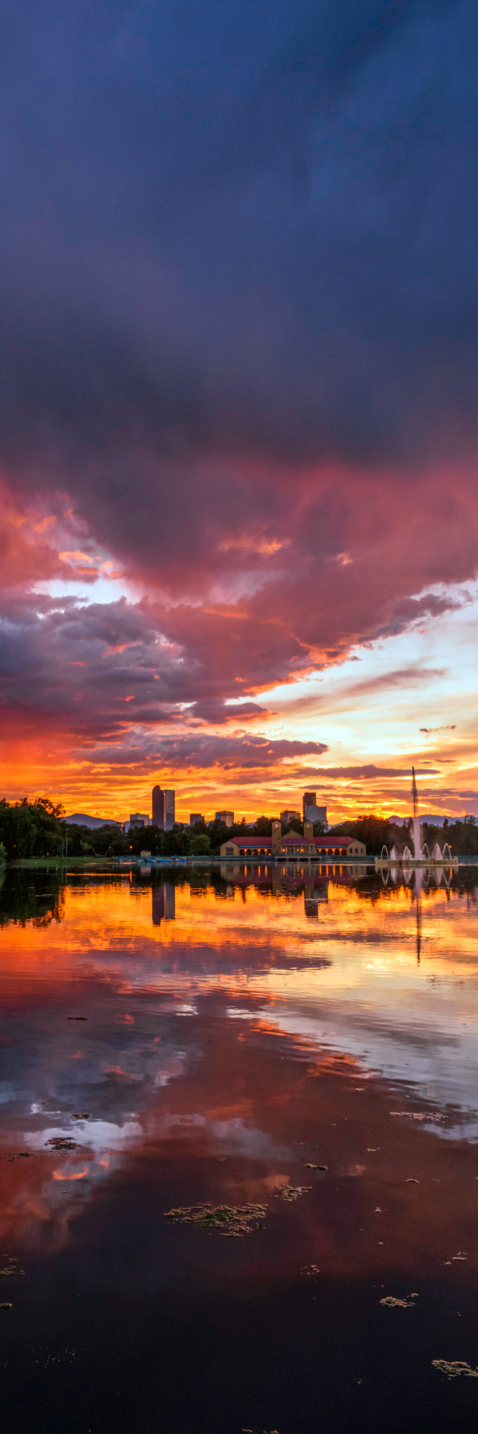
[[[1,29],[10,459],[88,453],[118,492],[125,435],[353,462],[467,445],[471,0],[20,0]]]

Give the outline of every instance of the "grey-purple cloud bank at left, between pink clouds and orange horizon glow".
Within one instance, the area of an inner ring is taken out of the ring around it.
[[[162,618],[167,622],[168,614]],[[300,647],[280,627],[257,622],[251,632],[245,619],[225,627],[222,634],[214,619],[211,631],[205,618],[202,631],[191,618],[188,630],[174,609],[174,634],[165,637],[148,602],[86,605],[7,594],[0,619],[3,713],[30,714],[53,727],[72,723],[85,736],[172,717],[194,726],[264,720],[267,708],[237,701],[237,673],[241,685],[273,680],[278,671],[287,677]]]

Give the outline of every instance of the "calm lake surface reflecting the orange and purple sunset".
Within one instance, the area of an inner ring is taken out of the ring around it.
[[[9,873],[4,1430],[477,1430],[477,882]]]

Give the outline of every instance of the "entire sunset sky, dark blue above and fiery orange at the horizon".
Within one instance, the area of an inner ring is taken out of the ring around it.
[[[4,0],[0,792],[478,815],[471,0]]]

